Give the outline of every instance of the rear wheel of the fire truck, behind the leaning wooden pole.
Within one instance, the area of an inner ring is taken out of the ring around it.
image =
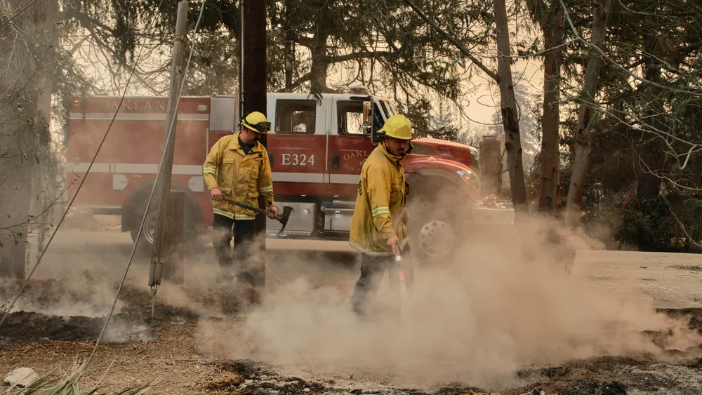
[[[129,224],[128,231],[131,234],[131,239],[133,243],[136,243],[137,236],[139,234],[139,227],[143,219],[144,211],[147,204],[149,203],[149,196],[151,194],[151,188],[153,183],[148,183],[142,185],[139,189],[135,190],[131,196],[129,196],[129,204],[125,204],[126,210],[124,210],[122,215],[127,215],[128,217],[123,219],[123,223]],[[178,184],[171,184],[171,188],[180,189],[185,192],[185,209],[184,214],[184,232],[185,238],[185,248],[190,249],[199,246],[201,243],[201,234],[204,227],[201,224],[201,213],[200,208],[195,201],[192,192],[185,189]],[[140,255],[151,255],[152,248],[154,245],[154,234],[156,231],[156,221],[157,221],[157,210],[159,207],[159,196],[158,192],[154,194],[154,199],[149,208],[149,213],[144,222],[144,229],[142,230],[141,239],[137,246],[137,252]]]

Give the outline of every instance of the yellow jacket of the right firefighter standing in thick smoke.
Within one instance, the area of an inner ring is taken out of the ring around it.
[[[406,192],[402,157],[379,144],[361,168],[349,245],[366,255],[392,256],[387,240],[397,236],[404,247],[407,227],[401,221],[395,234],[392,219],[404,207]]]

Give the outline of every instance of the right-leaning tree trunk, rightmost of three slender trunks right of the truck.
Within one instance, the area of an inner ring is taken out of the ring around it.
[[[609,11],[611,11],[613,0],[593,0],[592,1],[592,43],[599,45],[607,36],[607,21]],[[575,159],[571,173],[568,196],[566,198],[566,225],[574,227],[580,223],[581,206],[583,204],[583,193],[585,192],[585,180],[588,177],[588,166],[590,165],[590,152],[592,143],[590,141],[590,121],[592,121],[592,104],[595,102],[595,95],[600,81],[600,67],[602,58],[595,49],[590,49],[587,70],[585,71],[585,82],[581,103],[578,111],[578,128],[575,132]]]

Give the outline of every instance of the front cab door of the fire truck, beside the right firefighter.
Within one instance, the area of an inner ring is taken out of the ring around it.
[[[355,194],[361,167],[374,148],[370,136],[363,133],[363,102],[336,95],[331,114],[329,181],[332,188]]]

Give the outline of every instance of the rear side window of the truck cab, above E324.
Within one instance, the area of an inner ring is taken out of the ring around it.
[[[317,123],[317,100],[275,101],[275,133],[314,134]]]

